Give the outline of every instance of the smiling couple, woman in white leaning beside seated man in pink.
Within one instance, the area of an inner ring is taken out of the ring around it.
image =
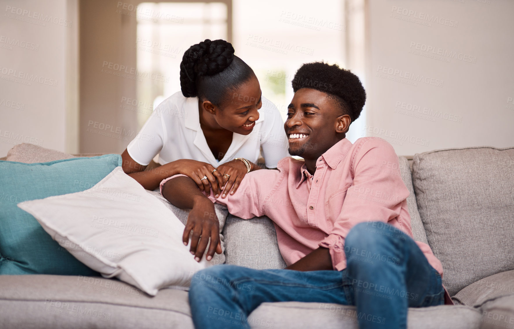
[[[192,231],[190,251],[197,261],[209,237],[207,260],[221,252],[211,215],[217,202],[245,219],[270,217],[288,265],[202,270],[189,292],[196,328],[246,327],[261,303],[280,301],[356,305],[360,328],[406,328],[408,307],[445,303],[441,263],[427,244],[412,239],[409,192],[399,169],[389,169],[398,168],[393,148],[379,138],[354,144],[345,138],[365,101],[354,74],[325,63],[300,67],[284,129],[289,154],[304,161],[279,161],[285,149],[270,139],[281,141],[280,117],[276,109],[261,111],[265,117],[258,122],[259,82],[230,44],[194,45],[181,66],[182,94],[190,99],[175,94],[157,107],[140,133],[157,136],[128,145],[125,172],[147,189],[160,181],[164,197],[192,209],[183,242]],[[252,130],[259,138],[245,138]],[[266,167],[278,170],[257,170],[259,144]],[[162,166],[141,172],[159,151]]]

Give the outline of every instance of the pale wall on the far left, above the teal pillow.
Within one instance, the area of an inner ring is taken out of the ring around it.
[[[22,142],[77,152],[77,0],[0,10],[0,156]]]

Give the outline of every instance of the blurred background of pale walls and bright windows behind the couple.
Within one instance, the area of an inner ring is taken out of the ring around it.
[[[514,145],[511,0],[1,1],[0,157],[15,144],[121,153],[180,90],[182,54],[225,39],[283,118],[302,63],[351,69],[347,138],[399,155]]]

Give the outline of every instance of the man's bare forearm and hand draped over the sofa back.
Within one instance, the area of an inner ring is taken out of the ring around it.
[[[177,193],[177,191],[180,191]],[[219,222],[214,210],[212,201],[202,193],[196,183],[187,176],[179,176],[168,180],[161,191],[169,202],[179,208],[190,208],[188,222],[182,234],[182,241],[187,246],[191,230],[190,251],[195,255],[195,260],[199,262],[204,255],[205,248],[211,239],[209,251],[206,259],[210,261],[214,252],[222,253],[221,243],[219,242]],[[205,239],[200,240],[200,236]],[[198,243],[199,240],[199,243]]]

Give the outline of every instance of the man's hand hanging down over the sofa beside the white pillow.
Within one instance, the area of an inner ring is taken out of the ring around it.
[[[207,251],[206,259],[210,261],[214,256],[214,252],[222,253],[221,242],[219,241],[219,222],[214,204],[211,200],[202,197],[196,197],[193,201],[193,209],[189,213],[186,228],[182,234],[182,241],[187,246],[189,242],[189,235],[191,236],[190,251],[195,255],[195,260],[199,262],[204,255],[209,237],[211,244]],[[200,236],[202,239],[200,239]]]

